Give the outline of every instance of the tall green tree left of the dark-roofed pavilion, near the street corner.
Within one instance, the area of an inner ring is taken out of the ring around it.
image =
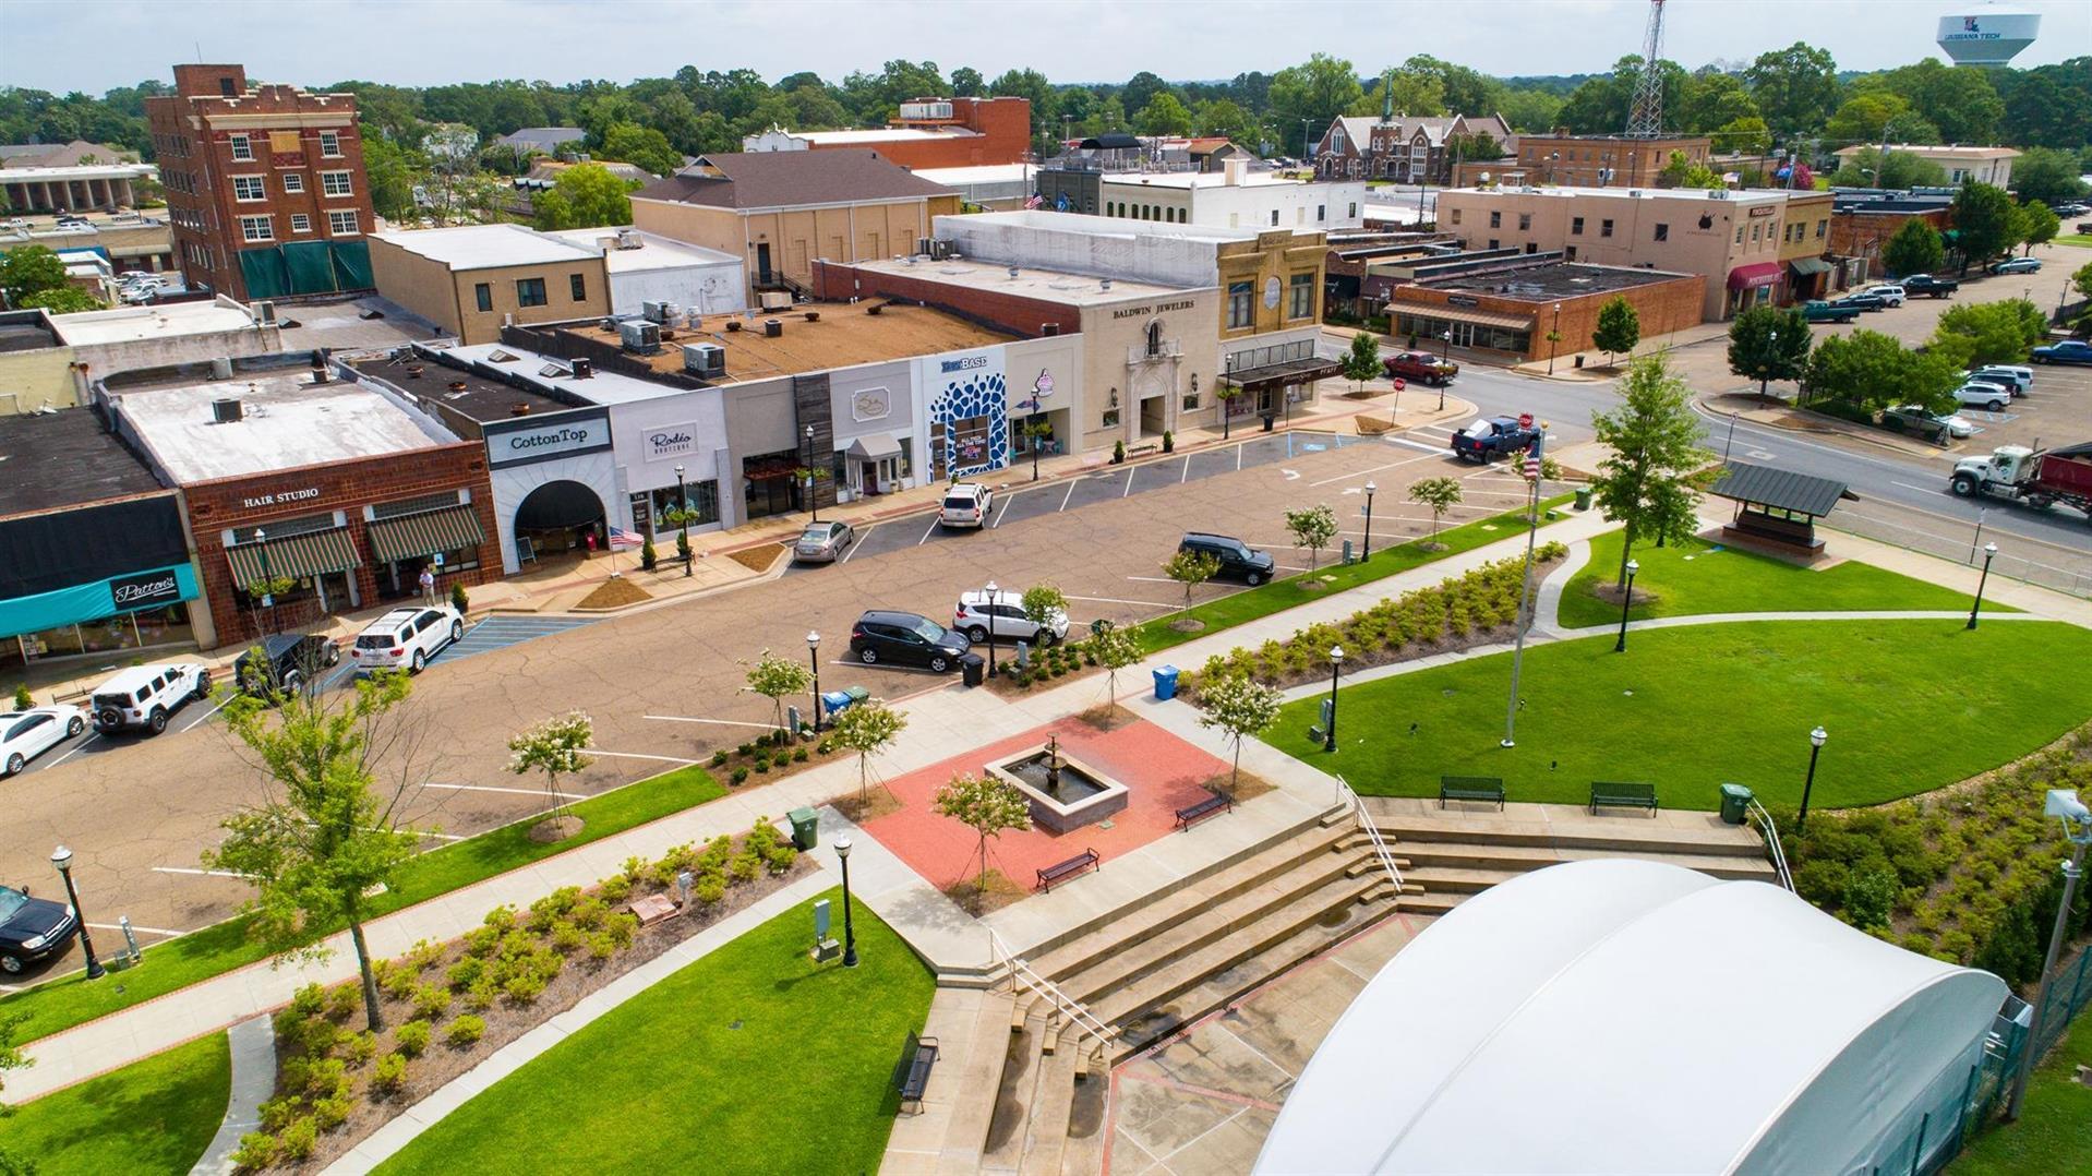
[[[1619,408],[1594,412],[1590,423],[1598,444],[1611,450],[1590,488],[1607,517],[1625,525],[1619,544],[1619,586],[1625,588],[1636,538],[1690,529],[1699,504],[1697,471],[1705,465],[1703,433],[1692,414],[1692,389],[1661,352],[1634,360],[1619,385]]]

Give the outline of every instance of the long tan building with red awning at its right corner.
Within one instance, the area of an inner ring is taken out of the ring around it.
[[[1469,249],[1561,251],[1565,262],[1707,278],[1705,320],[1774,301],[1787,193],[1726,188],[1448,188],[1439,228]],[[1684,326],[1684,324],[1680,324]],[[1653,333],[1642,324],[1644,333]]]

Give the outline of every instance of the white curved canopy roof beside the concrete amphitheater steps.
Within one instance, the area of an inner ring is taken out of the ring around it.
[[[1255,1170],[1866,1170],[1918,1130],[1941,1073],[1958,1096],[2006,994],[1776,885],[1565,862],[1469,898],[1387,963]]]

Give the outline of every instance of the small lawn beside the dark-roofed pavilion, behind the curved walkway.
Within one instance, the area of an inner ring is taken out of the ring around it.
[[[1563,588],[1561,621],[1567,628],[1619,624],[1619,605],[1602,601],[1594,588],[1611,588],[1619,575],[1621,532],[1590,540],[1590,563]],[[1866,609],[1966,611],[1969,596],[1952,588],[1912,580],[1868,563],[1845,561],[1810,571],[1782,559],[1732,546],[1686,540],[1682,544],[1634,544],[1634,594],[1657,598],[1628,615],[1686,617],[1701,613],[1851,613]],[[2015,613],[2002,605],[1985,605]]]

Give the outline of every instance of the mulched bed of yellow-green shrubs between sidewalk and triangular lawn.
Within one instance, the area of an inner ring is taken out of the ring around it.
[[[356,1027],[360,979],[301,988],[276,1011],[276,1096],[262,1105],[262,1130],[241,1138],[241,1168],[326,1168],[504,1044],[812,868],[761,818],[738,839],[678,845],[657,862],[630,858],[588,891],[561,887],[529,910],[500,906],[460,940],[377,960],[379,1034]],[[692,875],[690,904],[676,917],[640,927],[623,910],[653,894],[676,898],[682,870]]]

